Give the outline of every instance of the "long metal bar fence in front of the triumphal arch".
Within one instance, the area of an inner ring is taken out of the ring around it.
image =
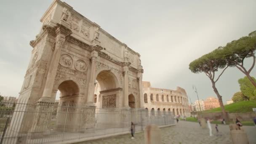
[[[103,109],[72,101],[27,104],[20,100],[11,108],[5,104],[0,103],[0,144],[45,144],[125,133],[131,122],[135,131],[149,124],[174,124],[171,112],[147,109]]]

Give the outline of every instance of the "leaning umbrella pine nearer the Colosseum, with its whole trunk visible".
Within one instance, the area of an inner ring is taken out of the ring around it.
[[[227,115],[222,101],[222,96],[219,94],[219,91],[216,88],[216,82],[219,80],[220,76],[223,74],[223,72],[227,69],[229,65],[227,65],[227,61],[225,61],[225,59],[218,55],[219,51],[221,51],[221,49],[218,48],[212,51],[211,53],[205,54],[202,57],[192,61],[189,64],[189,69],[194,73],[203,72],[205,73],[205,75],[207,75],[207,77],[209,77],[212,83],[213,91],[216,93],[219,99],[223,116],[227,120]],[[217,72],[220,69],[221,73],[219,73],[218,75]]]

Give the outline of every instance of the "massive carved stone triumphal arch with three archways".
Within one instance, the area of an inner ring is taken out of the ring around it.
[[[60,0],[54,0],[40,21],[40,32],[30,41],[33,50],[19,102],[50,105],[59,90],[61,106],[143,107],[139,53]],[[33,110],[44,112],[45,108]],[[11,122],[19,125],[13,131],[21,131],[21,127],[22,131],[46,131],[39,127],[47,115],[24,113],[17,117]],[[33,118],[37,120],[29,122]]]

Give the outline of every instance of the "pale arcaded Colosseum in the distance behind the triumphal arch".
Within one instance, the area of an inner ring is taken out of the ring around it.
[[[176,90],[152,88],[150,82],[143,83],[144,107],[150,115],[157,113],[172,113],[173,115],[190,116],[189,101],[184,88]]]

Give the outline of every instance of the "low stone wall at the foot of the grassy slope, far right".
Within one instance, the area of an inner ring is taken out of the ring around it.
[[[255,112],[229,114],[230,121],[235,121],[236,118],[238,118],[240,121],[252,121],[253,117],[256,117]]]

